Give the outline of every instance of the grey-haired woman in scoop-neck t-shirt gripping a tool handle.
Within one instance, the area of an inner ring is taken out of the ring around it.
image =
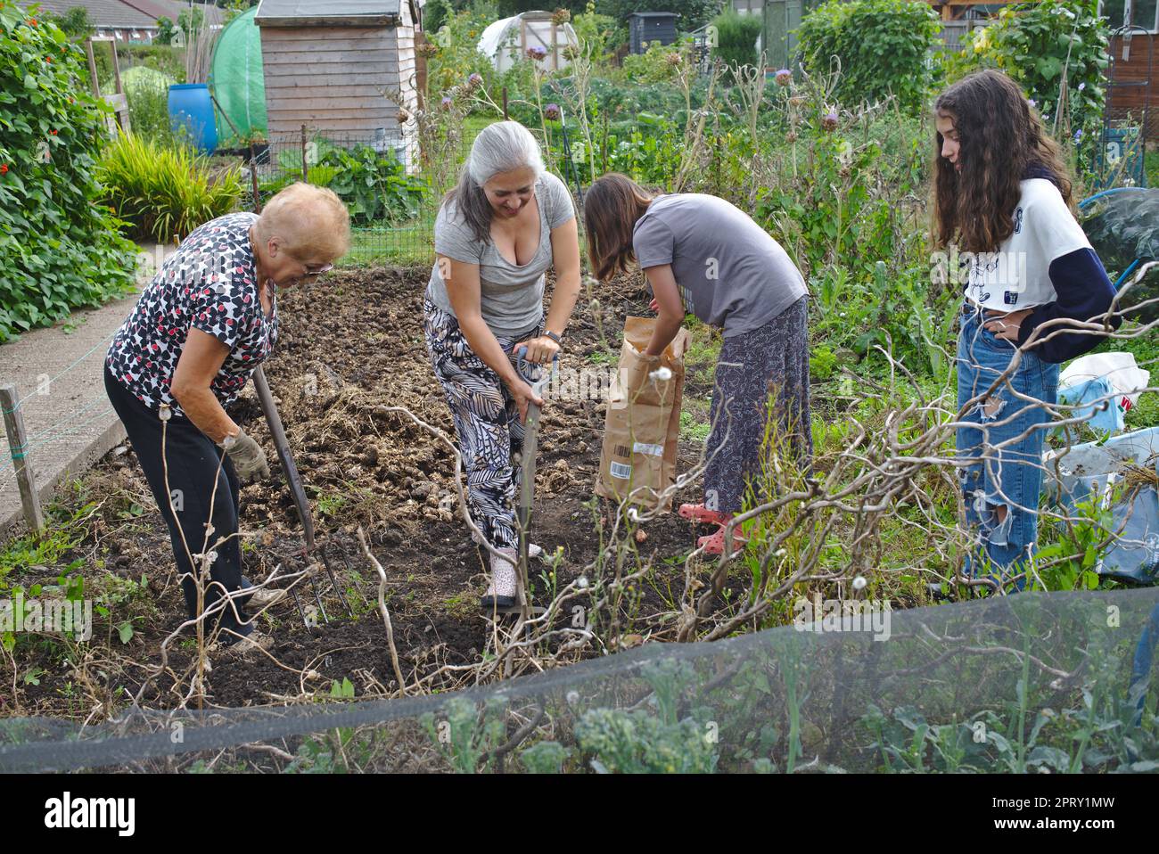
[[[472,517],[503,555],[490,560],[484,612],[516,604],[515,468],[527,404],[542,404],[517,370],[548,365],[580,295],[580,241],[571,195],[544,168],[539,144],[517,122],[475,138],[458,185],[435,220],[435,267],[423,329],[459,435]],[[555,292],[544,317],[545,272]],[[531,549],[538,553],[538,549]]]

